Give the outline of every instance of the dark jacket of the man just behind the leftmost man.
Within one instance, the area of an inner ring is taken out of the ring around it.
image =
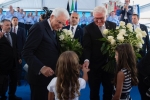
[[[17,47],[18,47],[20,58],[21,58],[21,52],[22,52],[25,40],[26,40],[25,30],[21,27],[18,27],[18,30],[17,30]]]

